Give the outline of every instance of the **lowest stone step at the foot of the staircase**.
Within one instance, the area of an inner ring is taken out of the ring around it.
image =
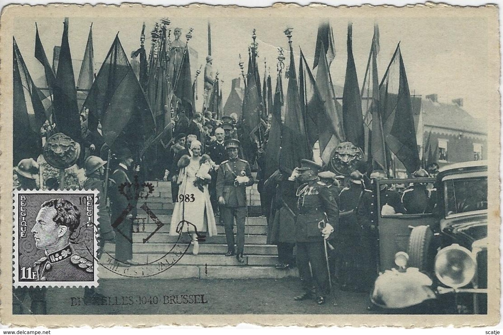
[[[147,265],[145,267],[155,267]],[[123,276],[99,267],[101,279],[124,279]],[[144,279],[257,279],[298,277],[297,269],[278,270],[266,266],[206,266],[206,265],[175,265],[161,273]]]

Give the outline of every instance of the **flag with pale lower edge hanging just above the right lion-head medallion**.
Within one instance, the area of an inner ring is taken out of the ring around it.
[[[320,47],[324,48],[323,45]],[[324,113],[318,113],[317,119],[319,153],[323,162],[328,164],[332,150],[344,142],[344,129],[342,106],[335,99],[328,62],[323,53],[316,72],[316,85],[325,106]]]

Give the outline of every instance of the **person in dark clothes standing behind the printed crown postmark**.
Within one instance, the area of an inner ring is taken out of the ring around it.
[[[133,262],[133,217],[136,214],[136,191],[134,187],[134,178],[132,172],[133,155],[128,148],[120,148],[116,152],[116,158],[119,166],[112,174],[115,184],[110,187],[111,201],[111,222],[115,229],[115,259],[119,262],[136,264]],[[121,185],[126,185],[124,191],[127,191],[129,198],[120,192]],[[131,188],[127,185],[132,185]],[[132,210],[127,216],[123,216],[124,210],[131,204]]]

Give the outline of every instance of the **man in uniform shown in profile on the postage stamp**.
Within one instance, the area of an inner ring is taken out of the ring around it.
[[[93,281],[93,262],[81,257],[69,240],[80,225],[80,211],[64,199],[51,199],[42,204],[31,232],[37,248],[46,257],[36,261],[39,281]]]

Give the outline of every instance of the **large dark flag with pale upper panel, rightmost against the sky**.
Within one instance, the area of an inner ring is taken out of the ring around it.
[[[391,73],[394,72],[390,68],[393,66],[396,69],[397,65],[398,82],[396,82],[396,78],[390,78]],[[395,87],[398,87],[396,96],[392,92],[392,89]],[[411,174],[421,166],[421,160],[419,159],[419,152],[417,150],[412,103],[405,66],[403,65],[400,52],[400,44],[396,47],[386,74],[381,81],[380,90],[384,139],[389,149],[402,162],[407,172]],[[386,118],[384,120],[385,115]]]

